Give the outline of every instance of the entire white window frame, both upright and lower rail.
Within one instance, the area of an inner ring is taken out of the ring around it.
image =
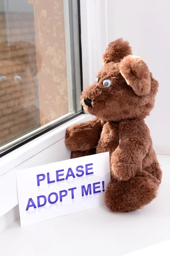
[[[102,54],[107,46],[106,7],[107,0],[80,0],[83,89],[94,82],[102,67]],[[16,171],[68,159],[71,152],[64,144],[65,129],[93,118],[81,114],[1,157],[0,232],[19,217]],[[57,152],[57,147],[62,147],[62,153]]]

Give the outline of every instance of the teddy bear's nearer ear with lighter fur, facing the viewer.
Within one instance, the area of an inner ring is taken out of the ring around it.
[[[138,96],[150,92],[150,71],[142,58],[133,55],[126,56],[120,62],[119,70]]]

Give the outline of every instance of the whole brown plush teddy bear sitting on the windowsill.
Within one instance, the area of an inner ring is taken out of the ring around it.
[[[144,118],[154,107],[158,81],[127,41],[111,42],[96,83],[81,103],[95,119],[67,128],[71,158],[110,152],[111,181],[105,204],[113,212],[142,209],[154,198],[162,172]]]

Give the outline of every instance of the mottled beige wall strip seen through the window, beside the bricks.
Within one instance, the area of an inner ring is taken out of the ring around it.
[[[38,73],[41,125],[68,113],[63,0],[34,1],[36,47],[42,58]]]

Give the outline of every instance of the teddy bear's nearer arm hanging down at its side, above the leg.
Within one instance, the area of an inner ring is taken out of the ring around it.
[[[124,122],[119,138],[119,146],[111,155],[111,171],[120,180],[129,180],[142,170],[151,143],[149,129],[144,121]]]

